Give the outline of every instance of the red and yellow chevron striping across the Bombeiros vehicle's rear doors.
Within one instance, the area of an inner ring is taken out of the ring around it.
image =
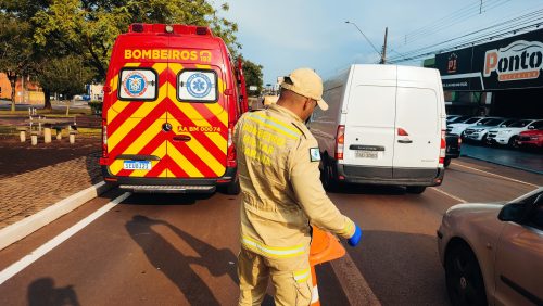
[[[219,69],[218,102],[177,101],[177,75],[184,68],[214,69],[209,65],[178,63],[127,63],[125,67],[152,67],[159,75],[159,97],[152,102],[117,100],[118,72],[111,79],[111,106],[108,110],[108,152],[114,176],[149,178],[216,178],[226,171],[228,112],[223,97],[226,88]],[[173,130],[162,126],[169,123]],[[204,131],[185,131],[182,127],[209,127]],[[212,130],[212,131],[210,131]],[[176,141],[174,136],[190,136]],[[121,154],[154,155],[151,170],[123,169]]]

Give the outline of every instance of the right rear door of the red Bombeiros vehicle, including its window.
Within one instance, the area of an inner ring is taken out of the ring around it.
[[[173,46],[174,50],[178,48],[181,46]],[[167,120],[172,132],[167,175],[217,178],[225,174],[227,160],[226,74],[210,63],[220,61],[220,52],[190,49],[187,52],[191,54],[190,62],[169,62]]]

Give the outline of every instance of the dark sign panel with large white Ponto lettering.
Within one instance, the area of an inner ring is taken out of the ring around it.
[[[543,88],[543,29],[435,55],[444,90]]]

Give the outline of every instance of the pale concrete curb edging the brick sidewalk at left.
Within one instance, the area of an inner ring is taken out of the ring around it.
[[[22,240],[23,238],[56,220],[110,189],[111,186],[101,181],[56,202],[37,214],[1,229],[0,250],[3,250],[12,243]]]

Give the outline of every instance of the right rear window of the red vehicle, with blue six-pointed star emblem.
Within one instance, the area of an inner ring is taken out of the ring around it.
[[[216,102],[217,74],[203,69],[181,71],[177,76],[177,99],[182,102]]]

